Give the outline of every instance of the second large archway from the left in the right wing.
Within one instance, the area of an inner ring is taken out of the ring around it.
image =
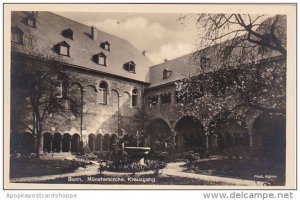
[[[176,150],[205,152],[205,133],[200,121],[192,116],[182,117],[175,125]]]

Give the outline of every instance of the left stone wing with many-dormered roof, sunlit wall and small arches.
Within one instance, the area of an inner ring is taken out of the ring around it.
[[[126,40],[50,12],[13,12],[11,40],[13,81],[15,70],[31,59],[38,62],[39,53],[49,58],[41,65],[62,68],[54,84],[64,115],[45,117],[44,151],[78,151],[80,141],[91,150],[108,151],[117,138],[143,129],[151,62]],[[28,135],[25,141],[33,143],[30,101],[20,90],[12,87],[12,105],[21,99],[27,105],[12,106],[12,134],[17,135],[12,140],[25,132],[21,137]]]

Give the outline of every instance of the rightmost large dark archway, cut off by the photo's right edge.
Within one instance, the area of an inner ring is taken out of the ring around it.
[[[286,119],[284,115],[261,114],[252,127],[254,146],[261,149],[267,158],[285,160]]]

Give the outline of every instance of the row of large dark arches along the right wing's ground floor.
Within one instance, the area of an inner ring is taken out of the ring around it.
[[[194,116],[183,116],[175,123],[155,118],[146,126],[145,144],[156,149],[155,141],[171,141],[175,152],[222,153],[231,148],[260,151],[270,158],[285,156],[285,118],[261,113],[253,123],[229,112],[216,115],[207,127]],[[172,138],[167,140],[166,138]]]

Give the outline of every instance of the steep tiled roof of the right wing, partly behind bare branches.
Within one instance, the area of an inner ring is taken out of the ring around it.
[[[274,20],[274,17],[266,19],[262,24],[261,27],[257,29],[258,32],[264,32],[265,24],[268,22],[270,24],[270,20]],[[283,46],[285,45],[285,36],[286,36],[286,17],[279,15],[279,23],[278,23],[278,30],[282,33],[282,41]],[[267,30],[268,31],[268,30]],[[241,38],[245,36],[240,36]],[[238,40],[239,38],[236,38]],[[149,69],[149,76],[150,76],[150,88],[157,87],[164,84],[172,83],[176,80],[180,80],[183,78],[191,77],[199,73],[208,73],[217,71],[220,68],[224,67],[226,64],[227,67],[238,67],[242,65],[247,65],[250,63],[257,63],[261,60],[270,59],[274,57],[280,56],[277,51],[268,51],[266,53],[259,54],[259,46],[255,47],[252,54],[247,54],[242,52],[242,48],[234,48],[231,55],[225,62],[223,61],[224,58],[221,58],[220,51],[226,51],[226,46],[230,42],[235,42],[235,39],[228,40],[222,42],[220,44],[213,45],[206,49],[201,49],[191,54],[181,56],[179,58],[175,58],[173,60],[166,60],[164,63],[155,65],[150,67]],[[240,55],[243,55],[241,57]],[[208,67],[202,68],[201,67],[201,58],[206,58],[209,60]],[[238,58],[238,59],[237,59]],[[222,61],[221,61],[222,60]],[[172,71],[169,77],[163,78],[163,71],[167,69]]]

